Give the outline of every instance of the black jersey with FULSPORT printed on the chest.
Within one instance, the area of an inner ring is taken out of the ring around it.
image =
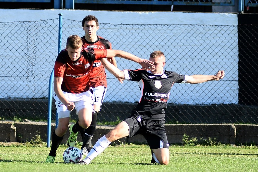
[[[124,70],[124,74],[127,80],[138,82],[141,98],[133,113],[137,112],[145,119],[164,119],[173,84],[185,80],[185,75],[165,70],[160,75],[151,74],[144,69]]]

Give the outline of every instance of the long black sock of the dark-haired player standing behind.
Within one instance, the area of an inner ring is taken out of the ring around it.
[[[92,113],[92,121],[91,121],[91,125],[90,127],[86,128],[85,130],[81,131],[81,136],[82,136],[82,142],[83,145],[81,148],[83,147],[91,147],[91,139],[93,137],[93,134],[96,131],[96,126],[97,126],[97,116],[98,116],[98,112],[94,111]]]

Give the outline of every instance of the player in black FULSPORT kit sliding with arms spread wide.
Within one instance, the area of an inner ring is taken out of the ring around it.
[[[114,65],[102,60],[102,63],[115,77],[137,81],[141,89],[141,98],[131,116],[119,123],[108,134],[101,137],[80,164],[89,164],[93,158],[104,151],[112,142],[122,137],[133,137],[142,134],[151,148],[151,163],[168,164],[169,149],[165,132],[165,109],[174,83],[197,84],[207,81],[220,80],[224,71],[215,75],[182,75],[173,71],[164,70],[165,56],[161,51],[154,51],[150,55],[155,70],[144,69],[120,71]]]

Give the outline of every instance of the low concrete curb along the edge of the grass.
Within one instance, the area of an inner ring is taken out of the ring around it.
[[[257,144],[258,133],[255,124],[166,124],[167,139],[170,144],[182,143],[182,137],[187,134],[189,138],[209,139],[216,138],[216,141],[223,144]],[[96,132],[92,139],[95,143],[100,137],[107,134],[113,127],[97,126]],[[55,123],[51,124],[51,133],[55,130]],[[7,142],[25,142],[31,141],[36,136],[40,136],[43,141],[47,141],[47,124],[46,122],[14,122],[2,121],[0,124],[0,141]],[[66,132],[61,144],[65,144],[69,137]],[[81,136],[78,134],[78,141]],[[123,143],[146,144],[146,140],[142,135],[132,138],[123,138],[119,140]],[[119,144],[119,142],[117,142]]]

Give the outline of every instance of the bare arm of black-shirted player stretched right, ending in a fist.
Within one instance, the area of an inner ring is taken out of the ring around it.
[[[215,75],[190,75],[186,83],[198,84],[207,81],[218,81],[225,76],[225,71],[218,71]]]

